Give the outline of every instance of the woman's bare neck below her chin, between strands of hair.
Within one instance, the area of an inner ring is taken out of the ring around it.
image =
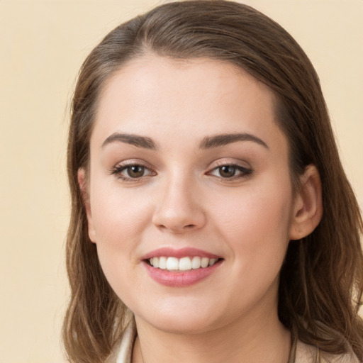
[[[289,330],[277,313],[240,318],[198,334],[167,333],[135,317],[133,363],[288,362]]]

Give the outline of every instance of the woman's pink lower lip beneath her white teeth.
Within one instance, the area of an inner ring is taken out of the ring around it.
[[[167,269],[157,269],[143,262],[150,277],[164,286],[185,287],[196,284],[197,282],[211,276],[218,269],[222,260],[212,266],[191,269],[188,271],[168,271]]]

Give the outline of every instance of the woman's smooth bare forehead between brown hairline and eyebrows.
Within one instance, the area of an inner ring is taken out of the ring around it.
[[[148,54],[104,85],[91,142],[101,145],[116,131],[176,140],[236,132],[268,138],[280,133],[274,104],[267,86],[228,63]]]

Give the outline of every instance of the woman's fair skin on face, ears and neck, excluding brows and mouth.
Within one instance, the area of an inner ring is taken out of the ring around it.
[[[150,138],[156,148],[111,140],[115,133]],[[200,147],[226,133],[265,145]],[[293,193],[272,91],[222,62],[148,54],[104,86],[90,150],[87,183],[79,171],[89,236],[135,314],[133,362],[287,362],[279,271],[289,240],[320,220],[320,180],[310,166]],[[120,172],[125,162],[143,165],[143,177]],[[221,165],[243,169],[225,177]],[[163,286],[142,261],[160,247],[195,247],[223,261],[197,284]]]

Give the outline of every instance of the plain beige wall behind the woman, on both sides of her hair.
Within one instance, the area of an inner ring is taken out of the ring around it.
[[[0,362],[65,362],[67,104],[91,48],[158,1],[0,0]],[[363,0],[249,0],[320,74],[363,206]]]

